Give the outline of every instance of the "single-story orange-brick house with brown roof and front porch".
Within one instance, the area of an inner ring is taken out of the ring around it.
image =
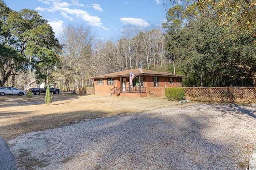
[[[130,83],[131,73],[135,77]],[[137,68],[90,79],[94,80],[94,94],[146,97],[147,87],[182,87],[182,78],[185,76]]]

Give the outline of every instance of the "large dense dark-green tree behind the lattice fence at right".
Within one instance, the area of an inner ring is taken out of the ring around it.
[[[229,86],[234,80],[250,78],[255,86],[256,39],[252,33],[226,29],[208,13],[187,20],[196,14],[196,10],[190,11],[193,14],[180,11],[186,22],[181,29],[167,27],[166,33],[168,54],[188,77],[184,85]]]

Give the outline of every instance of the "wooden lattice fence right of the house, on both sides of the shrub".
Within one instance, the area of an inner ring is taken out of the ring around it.
[[[148,96],[166,98],[166,88],[148,87]],[[256,87],[184,87],[187,100],[256,103]]]

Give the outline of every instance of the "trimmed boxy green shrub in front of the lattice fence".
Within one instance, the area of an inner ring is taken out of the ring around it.
[[[185,91],[180,87],[166,88],[165,96],[167,100],[180,101],[185,99]]]

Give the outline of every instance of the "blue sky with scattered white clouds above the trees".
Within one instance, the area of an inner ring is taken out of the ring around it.
[[[117,40],[125,24],[152,27],[166,21],[168,0],[4,0],[15,11],[38,11],[56,37],[68,24],[90,26],[98,38]]]

